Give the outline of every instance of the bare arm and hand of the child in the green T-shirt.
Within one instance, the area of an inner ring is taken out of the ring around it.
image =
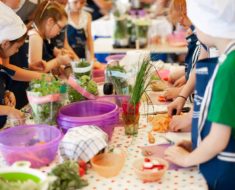
[[[189,153],[181,147],[174,146],[166,150],[166,159],[185,167],[204,163],[226,148],[230,135],[229,126],[213,123],[209,135],[193,152]]]

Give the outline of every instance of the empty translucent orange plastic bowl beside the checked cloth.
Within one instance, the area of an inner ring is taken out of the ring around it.
[[[102,177],[110,178],[119,174],[125,163],[125,153],[102,153],[91,159],[92,168]]]

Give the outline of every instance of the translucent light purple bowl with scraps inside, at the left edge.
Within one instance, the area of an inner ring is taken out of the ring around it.
[[[29,161],[39,168],[54,160],[62,133],[49,125],[23,125],[0,132],[0,151],[8,164]]]

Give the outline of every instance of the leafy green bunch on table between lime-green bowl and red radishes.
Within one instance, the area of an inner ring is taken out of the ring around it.
[[[88,185],[88,182],[79,176],[79,165],[75,161],[65,161],[57,165],[49,175],[57,179],[49,186],[48,190],[75,190]]]

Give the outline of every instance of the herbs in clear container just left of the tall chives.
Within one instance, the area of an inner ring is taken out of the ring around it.
[[[124,66],[121,66],[119,62],[115,65],[108,65],[106,72],[108,80],[113,83],[115,91],[117,94],[128,94],[129,93],[129,85],[125,78],[119,76],[112,76],[113,71],[118,71],[120,73],[126,74],[126,70]]]

